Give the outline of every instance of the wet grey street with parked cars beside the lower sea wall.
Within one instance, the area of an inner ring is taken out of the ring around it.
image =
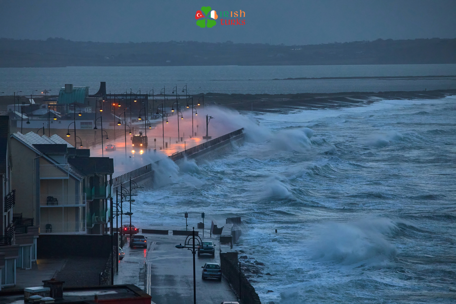
[[[172,233],[172,232],[171,232]],[[190,250],[175,246],[185,241],[185,236],[144,234],[147,248],[123,247],[125,258],[119,261],[119,272],[114,275],[114,284],[135,284],[152,296],[155,304],[193,303],[193,255]],[[237,301],[238,298],[225,278],[222,281],[202,280],[201,267],[205,263],[220,263],[218,242],[215,257],[195,255],[196,294],[198,304],[214,304],[222,301]],[[223,270],[222,270],[223,271]]]

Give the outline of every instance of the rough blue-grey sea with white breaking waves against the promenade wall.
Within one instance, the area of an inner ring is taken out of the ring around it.
[[[244,127],[245,144],[164,161],[132,211],[141,227],[241,216],[233,249],[260,265],[246,274],[262,303],[455,303],[455,104],[212,109],[214,128]]]

